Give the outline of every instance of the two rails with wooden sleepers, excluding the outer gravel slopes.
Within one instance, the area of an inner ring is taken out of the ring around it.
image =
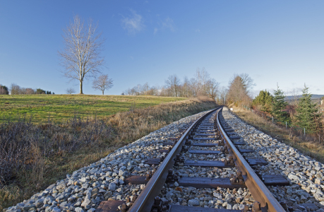
[[[145,184],[139,196],[134,194],[126,201],[102,201],[97,211],[291,211],[266,187],[289,184],[287,179],[267,175],[261,180],[251,166],[267,162],[259,158],[245,159],[242,153],[253,151],[239,148],[246,143],[237,139],[239,136],[222,118],[222,107],[203,115],[181,136],[163,143],[164,149],[158,151],[164,157],[146,158],[145,164],[151,166],[147,175],[124,179],[129,185]],[[201,194],[192,199],[192,193]],[[222,195],[225,200],[235,197],[237,203],[249,196],[250,204],[232,208],[227,201],[220,200],[221,208],[194,207],[200,202],[213,205],[212,197]]]

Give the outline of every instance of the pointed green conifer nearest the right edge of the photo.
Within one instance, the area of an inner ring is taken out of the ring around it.
[[[308,132],[316,132],[320,127],[320,113],[316,107],[316,103],[311,102],[311,93],[305,85],[303,95],[299,99],[296,108],[296,124],[301,128],[305,128]]]

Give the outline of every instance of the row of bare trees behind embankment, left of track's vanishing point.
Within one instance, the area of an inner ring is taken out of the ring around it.
[[[123,95],[158,95],[172,97],[196,97],[205,95],[217,100],[220,95],[220,83],[214,78],[210,78],[210,74],[205,68],[196,70],[194,78],[184,77],[183,81],[174,75],[170,75],[165,81],[164,86],[150,86],[148,83],[144,85],[138,84],[133,88],[128,88],[122,93]]]

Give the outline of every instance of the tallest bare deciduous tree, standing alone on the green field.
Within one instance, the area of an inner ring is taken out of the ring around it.
[[[73,17],[73,23],[64,29],[64,49],[59,51],[64,76],[80,81],[80,94],[83,93],[85,78],[96,76],[104,64],[101,52],[104,46],[102,33],[97,32],[97,25],[88,25],[79,16]]]

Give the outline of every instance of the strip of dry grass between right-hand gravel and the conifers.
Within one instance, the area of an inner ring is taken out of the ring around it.
[[[293,129],[285,129],[284,126],[277,126],[269,122],[267,119],[254,114],[251,111],[244,110],[241,107],[233,107],[234,114],[244,120],[247,124],[250,124],[256,129],[263,131],[265,134],[269,134],[272,138],[282,141],[289,146],[292,146],[302,153],[315,158],[316,160],[324,163],[324,145],[323,142],[314,141],[313,135],[304,136],[304,134],[296,133]]]

